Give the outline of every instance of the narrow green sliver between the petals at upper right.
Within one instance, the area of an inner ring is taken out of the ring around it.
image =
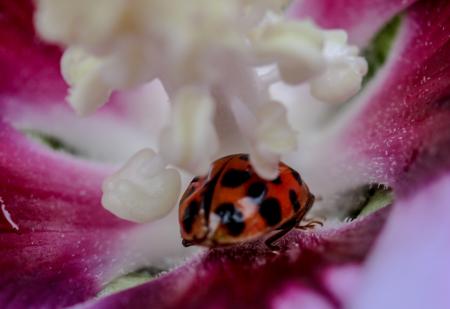
[[[366,58],[369,65],[369,70],[363,79],[363,85],[366,85],[385,63],[391,51],[392,43],[397,37],[402,19],[402,15],[392,18],[375,34],[369,45],[362,51],[362,56]]]

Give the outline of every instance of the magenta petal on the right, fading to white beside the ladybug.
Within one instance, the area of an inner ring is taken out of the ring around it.
[[[306,157],[293,165],[314,192],[383,183],[406,194],[449,167],[449,27],[448,1],[408,8],[384,67],[320,145],[296,154]]]

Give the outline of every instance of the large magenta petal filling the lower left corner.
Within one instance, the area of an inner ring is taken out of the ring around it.
[[[106,170],[68,164],[1,123],[0,144],[0,307],[94,296],[118,274],[123,233],[133,226],[100,205]]]

